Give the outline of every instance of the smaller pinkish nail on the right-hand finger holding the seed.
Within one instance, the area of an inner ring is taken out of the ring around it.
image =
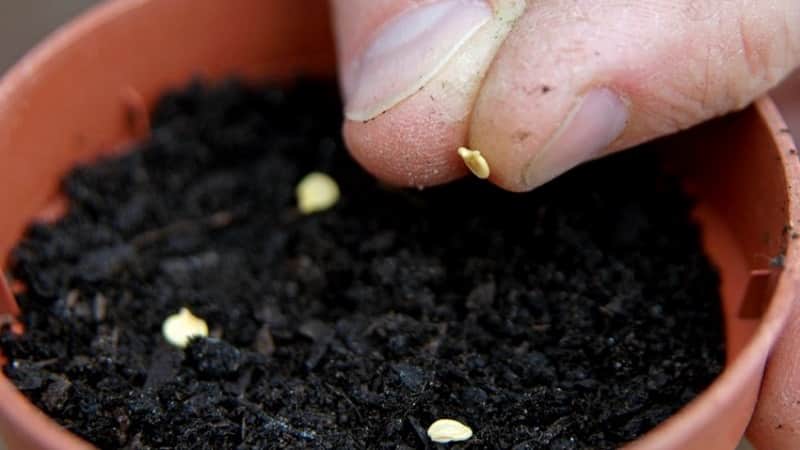
[[[627,123],[628,107],[614,91],[589,91],[528,163],[523,172],[525,184],[533,189],[598,157],[622,134]]]

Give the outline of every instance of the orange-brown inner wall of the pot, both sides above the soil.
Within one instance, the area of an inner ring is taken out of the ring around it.
[[[110,2],[77,35],[57,36],[27,58],[0,87],[0,266],[34,217],[63,211],[58,184],[70,167],[146,133],[147,110],[163,90],[195,76],[332,75],[325,4]],[[760,323],[786,245],[779,150],[756,108],[661,145],[699,201],[705,246],[721,272],[732,361]],[[0,279],[0,313],[18,312],[11,291]]]

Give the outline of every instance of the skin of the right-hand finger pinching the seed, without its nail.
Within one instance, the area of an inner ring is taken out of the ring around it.
[[[470,145],[489,155],[498,184],[533,188],[524,168],[590,89],[617,92],[630,114],[595,156],[629,148],[742,108],[779,82],[800,59],[792,24],[796,0],[536,2],[495,57]]]

